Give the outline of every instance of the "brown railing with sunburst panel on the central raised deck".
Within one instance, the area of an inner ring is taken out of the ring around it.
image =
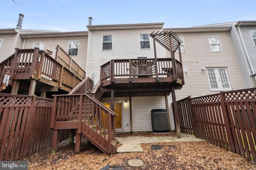
[[[110,80],[114,82],[114,78],[128,77],[173,77],[174,81],[182,80],[183,71],[182,63],[175,59],[175,65],[172,66],[171,58],[164,59],[120,59],[111,60],[101,66],[100,78],[101,82]]]

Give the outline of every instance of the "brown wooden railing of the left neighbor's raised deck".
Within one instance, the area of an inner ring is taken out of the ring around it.
[[[62,50],[58,52],[62,53]],[[71,59],[70,63],[74,63],[74,61]],[[43,76],[57,82],[58,87],[64,84],[74,88],[85,78],[84,70],[79,68],[74,71],[74,68],[76,65],[66,67],[46,54],[45,51],[39,51],[38,48],[16,49],[14,55],[0,64],[0,83],[3,82],[4,73],[9,71],[11,80],[30,78],[38,80]]]

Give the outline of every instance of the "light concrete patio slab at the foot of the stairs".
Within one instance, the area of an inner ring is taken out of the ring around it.
[[[188,134],[181,134],[181,138],[169,137],[169,136],[154,136],[154,137],[143,137],[143,136],[130,136],[130,137],[116,137],[116,140],[122,144],[117,148],[118,153],[129,153],[129,152],[143,152],[141,143],[160,143],[160,142],[189,142],[189,141],[205,141],[203,139],[196,138],[195,136]]]

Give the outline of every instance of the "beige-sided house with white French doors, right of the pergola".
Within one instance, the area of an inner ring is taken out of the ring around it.
[[[176,98],[198,97],[245,88],[230,40],[231,26],[166,28],[182,39],[185,84]],[[166,51],[167,57],[170,53]]]

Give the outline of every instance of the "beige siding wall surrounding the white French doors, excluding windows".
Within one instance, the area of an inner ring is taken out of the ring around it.
[[[176,90],[176,100],[218,92],[210,90],[207,71],[201,70],[205,67],[226,67],[232,89],[245,88],[228,31],[187,33],[174,30],[174,32],[184,38],[186,53],[181,53],[182,64],[188,67],[189,75],[184,77],[185,85],[182,89]],[[211,52],[208,36],[219,37],[222,51]],[[166,56],[170,57],[170,53],[166,52]]]

